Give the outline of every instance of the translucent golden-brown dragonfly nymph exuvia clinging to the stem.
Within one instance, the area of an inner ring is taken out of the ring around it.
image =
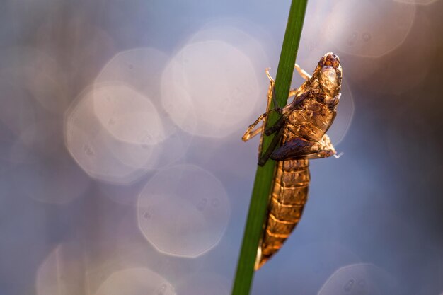
[[[275,81],[270,79],[267,91],[267,109],[248,127],[243,141],[261,134],[258,165],[271,158],[277,161],[270,190],[267,218],[258,246],[255,270],[279,250],[297,226],[308,199],[309,160],[335,155],[328,134],[340,100],[342,67],[340,59],[332,52],[321,57],[312,76],[296,64],[295,69],[304,78],[299,88],[289,91],[294,96],[291,103],[279,108],[276,103]],[[275,108],[271,108],[274,103]],[[277,122],[266,127],[271,111],[280,114]],[[263,120],[261,127],[255,128]],[[269,147],[262,153],[263,137],[276,133]]]

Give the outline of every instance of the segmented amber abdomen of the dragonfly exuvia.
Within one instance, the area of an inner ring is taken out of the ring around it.
[[[277,161],[256,270],[282,247],[299,223],[309,180],[309,160]]]

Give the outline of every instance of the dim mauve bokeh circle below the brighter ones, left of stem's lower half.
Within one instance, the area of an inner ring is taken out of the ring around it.
[[[229,220],[222,183],[193,165],[159,170],[140,192],[139,228],[161,253],[196,257],[219,243]]]

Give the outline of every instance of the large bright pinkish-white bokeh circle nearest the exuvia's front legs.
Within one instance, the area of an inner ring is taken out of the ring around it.
[[[226,137],[247,125],[259,94],[249,57],[222,40],[185,45],[163,71],[161,86],[172,120],[203,137]]]

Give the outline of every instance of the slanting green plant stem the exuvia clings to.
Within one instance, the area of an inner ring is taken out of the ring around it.
[[[291,8],[289,9],[289,18],[286,32],[284,33],[277,76],[275,77],[275,95],[280,106],[287,104],[307,2],[307,0],[292,0]],[[273,112],[268,118],[267,124],[272,125],[277,119],[278,115]],[[273,137],[273,135],[265,137],[263,139],[263,146],[269,146]],[[258,243],[263,231],[274,168],[275,161],[270,160],[267,161],[265,166],[258,166],[255,173],[251,204],[249,205],[248,219],[238,258],[232,295],[248,295],[251,289],[255,256],[257,255]]]

